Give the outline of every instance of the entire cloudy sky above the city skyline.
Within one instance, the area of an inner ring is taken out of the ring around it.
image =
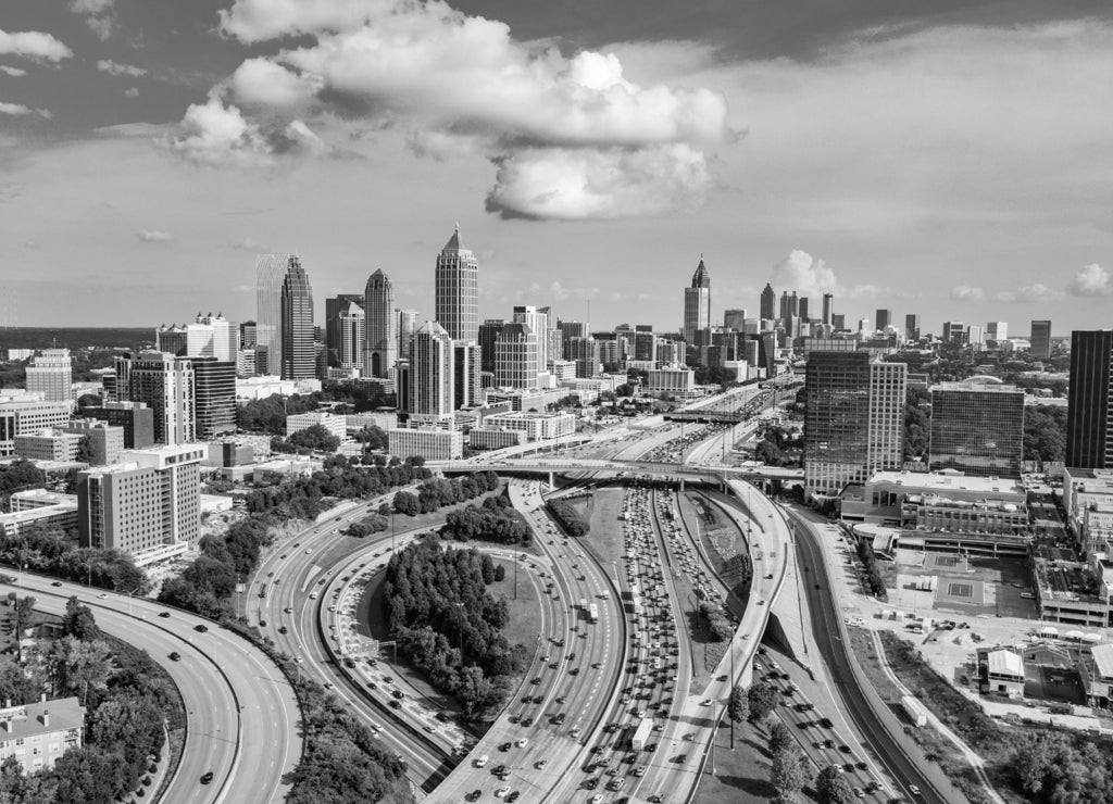
[[[0,326],[247,320],[272,251],[431,317],[459,224],[484,318],[676,330],[702,257],[720,321],[1107,328],[1111,76],[1097,0],[3,0]]]

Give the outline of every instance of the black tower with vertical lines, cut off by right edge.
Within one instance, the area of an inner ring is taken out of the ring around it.
[[[1033,331],[1036,324],[1032,322]],[[1047,331],[1051,330],[1050,322],[1040,324],[1047,324]],[[1071,332],[1066,411],[1066,465],[1078,469],[1113,469],[1113,331]]]

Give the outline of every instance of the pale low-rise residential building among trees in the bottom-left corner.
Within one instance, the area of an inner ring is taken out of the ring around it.
[[[53,767],[83,745],[85,714],[77,697],[0,708],[0,762],[13,757],[27,775]]]

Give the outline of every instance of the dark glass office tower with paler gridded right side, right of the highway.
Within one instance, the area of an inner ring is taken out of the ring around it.
[[[907,367],[869,353],[815,351],[805,373],[805,492],[834,497],[900,466]]]

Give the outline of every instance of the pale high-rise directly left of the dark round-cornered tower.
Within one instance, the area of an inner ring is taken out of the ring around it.
[[[158,444],[189,444],[196,440],[195,375],[188,357],[165,351],[144,351],[116,361],[117,375],[127,365],[127,398],[151,409]],[[117,388],[117,393],[121,389]]]

